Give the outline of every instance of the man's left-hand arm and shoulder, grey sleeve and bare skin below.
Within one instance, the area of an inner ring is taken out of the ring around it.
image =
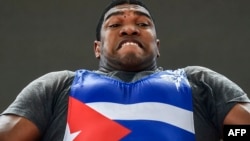
[[[53,130],[47,126],[51,125],[51,118],[64,118],[68,89],[73,78],[74,72],[59,71],[45,74],[29,83],[0,115],[0,141],[38,141],[39,136],[43,139],[63,136],[58,134],[64,133],[61,128],[48,134],[44,132]],[[53,117],[53,114],[56,116]],[[56,123],[52,127],[55,126]]]

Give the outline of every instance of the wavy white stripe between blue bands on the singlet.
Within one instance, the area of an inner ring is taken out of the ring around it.
[[[157,102],[137,104],[93,102],[87,105],[112,120],[161,121],[194,133],[193,112],[173,105]]]

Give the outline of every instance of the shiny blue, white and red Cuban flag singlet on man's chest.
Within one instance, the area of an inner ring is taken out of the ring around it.
[[[195,141],[192,107],[182,69],[131,83],[79,70],[64,141]]]

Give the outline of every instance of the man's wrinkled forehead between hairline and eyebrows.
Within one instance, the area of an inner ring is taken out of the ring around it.
[[[144,7],[140,5],[135,5],[135,4],[123,4],[123,5],[115,6],[111,8],[110,10],[108,10],[106,14],[104,15],[104,21],[110,18],[111,16],[122,15],[125,12],[134,12],[135,14],[144,15],[152,19],[150,13]]]

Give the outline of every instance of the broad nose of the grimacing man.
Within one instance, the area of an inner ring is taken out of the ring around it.
[[[139,35],[140,30],[135,25],[125,25],[120,30],[120,36]]]

